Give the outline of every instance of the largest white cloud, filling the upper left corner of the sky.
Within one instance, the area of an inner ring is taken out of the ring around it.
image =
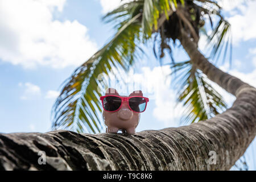
[[[0,1],[0,59],[25,68],[80,65],[97,51],[77,20],[53,20],[65,0]]]

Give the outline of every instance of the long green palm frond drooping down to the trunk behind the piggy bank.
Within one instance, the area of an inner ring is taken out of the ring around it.
[[[52,110],[53,128],[64,128],[89,133],[103,130],[99,85],[106,85],[104,80],[97,80],[100,73],[108,75],[112,68],[128,70],[137,57],[136,41],[139,40],[141,14],[126,18],[118,28],[117,34],[100,51],[82,64],[64,83]],[[123,41],[126,40],[126,41]],[[104,86],[103,86],[104,87]],[[102,90],[104,91],[104,90]]]

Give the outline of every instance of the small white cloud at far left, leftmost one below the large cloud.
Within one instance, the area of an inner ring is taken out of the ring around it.
[[[41,96],[41,89],[38,85],[31,84],[30,82],[19,82],[18,86],[24,89],[21,100],[29,100],[32,98],[38,98]]]

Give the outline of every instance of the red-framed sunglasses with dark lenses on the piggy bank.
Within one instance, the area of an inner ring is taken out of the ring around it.
[[[100,97],[100,100],[102,101],[102,106],[105,111],[118,111],[123,102],[127,102],[129,109],[137,113],[142,113],[144,110],[146,110],[147,102],[149,101],[147,97],[141,96],[102,96]]]

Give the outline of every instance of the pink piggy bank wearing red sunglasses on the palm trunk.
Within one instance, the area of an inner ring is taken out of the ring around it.
[[[146,110],[148,98],[143,97],[141,90],[129,96],[119,96],[117,90],[109,88],[105,96],[100,98],[103,106],[102,116],[106,125],[106,133],[135,134],[140,114]]]

